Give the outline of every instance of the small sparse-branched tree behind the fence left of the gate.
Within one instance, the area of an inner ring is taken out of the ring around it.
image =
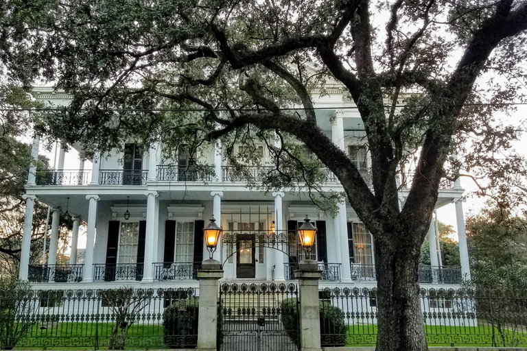
[[[128,329],[137,322],[139,313],[150,305],[153,294],[152,289],[134,291],[132,287],[102,291],[102,304],[110,308],[115,319],[108,345],[109,350],[124,350]]]

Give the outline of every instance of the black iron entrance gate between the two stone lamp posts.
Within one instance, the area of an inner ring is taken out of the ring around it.
[[[298,315],[294,284],[222,284],[218,350],[298,351]]]

